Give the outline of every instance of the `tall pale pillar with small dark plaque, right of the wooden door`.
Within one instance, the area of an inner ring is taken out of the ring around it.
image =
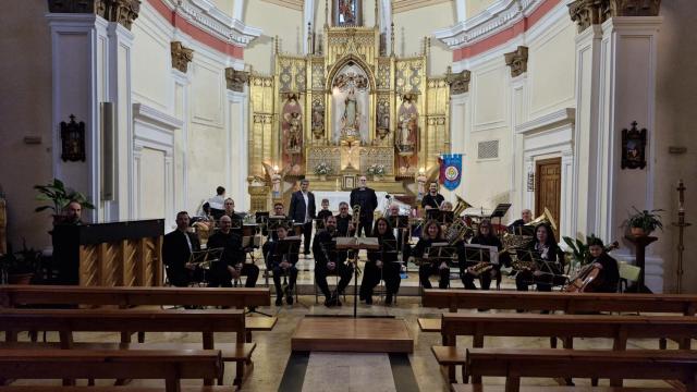
[[[608,241],[624,236],[620,225],[632,206],[639,210],[661,207],[653,206],[656,66],[661,23],[660,16],[623,16],[620,12],[602,24],[597,209],[599,234]],[[622,130],[631,128],[634,121],[639,130],[647,130],[647,164],[644,169],[623,170]],[[626,242],[623,245],[626,248],[621,253],[628,256],[634,249]],[[663,286],[662,259],[651,257],[651,249],[647,249],[646,285],[656,292]]]

